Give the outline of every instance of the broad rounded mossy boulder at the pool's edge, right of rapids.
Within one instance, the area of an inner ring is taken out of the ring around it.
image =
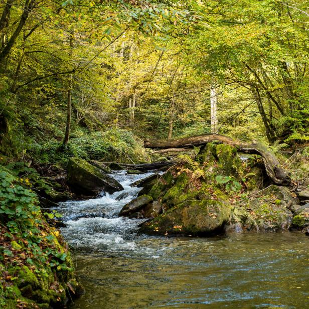
[[[231,210],[215,200],[186,201],[145,222],[141,233],[155,235],[209,235],[221,231]]]

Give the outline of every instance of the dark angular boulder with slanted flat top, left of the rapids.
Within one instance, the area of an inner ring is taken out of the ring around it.
[[[76,194],[94,195],[104,191],[114,193],[123,187],[102,170],[79,158],[70,158],[67,181]]]

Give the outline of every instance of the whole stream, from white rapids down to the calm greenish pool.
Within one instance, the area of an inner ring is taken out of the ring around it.
[[[123,191],[57,208],[86,290],[72,309],[309,308],[309,237],[136,235],[143,220],[118,213],[140,190],[130,184],[148,175],[119,172]]]

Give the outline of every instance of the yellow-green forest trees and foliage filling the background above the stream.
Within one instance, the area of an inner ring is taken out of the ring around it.
[[[2,2],[2,152],[118,127],[308,137],[308,3]],[[212,98],[216,127],[211,128]]]

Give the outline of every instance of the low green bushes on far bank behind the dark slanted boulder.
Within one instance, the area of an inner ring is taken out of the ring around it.
[[[32,144],[28,154],[40,164],[54,163],[64,167],[70,157],[104,162],[146,162],[149,160],[147,151],[131,131],[114,127],[97,132],[76,129],[65,151],[61,149],[61,142],[51,138]]]

